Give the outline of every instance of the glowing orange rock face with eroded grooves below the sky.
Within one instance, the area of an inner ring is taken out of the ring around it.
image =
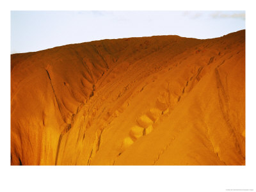
[[[12,54],[11,164],[245,164],[245,31]]]

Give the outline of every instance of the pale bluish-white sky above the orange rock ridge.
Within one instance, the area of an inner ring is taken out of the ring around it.
[[[12,11],[11,54],[106,38],[214,38],[241,29],[244,11]]]

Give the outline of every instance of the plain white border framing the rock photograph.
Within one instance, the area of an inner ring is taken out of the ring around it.
[[[226,191],[255,188],[253,1],[9,1],[1,6],[0,191]],[[10,10],[246,10],[246,166],[10,166]]]

